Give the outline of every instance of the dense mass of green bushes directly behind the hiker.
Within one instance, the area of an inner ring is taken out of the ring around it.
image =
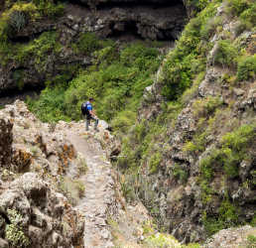
[[[136,110],[144,88],[153,83],[151,74],[157,71],[160,60],[156,49],[146,48],[143,44],[124,46],[117,52],[114,44],[106,42],[104,52],[95,54],[95,60],[103,62],[90,66],[67,85],[67,76],[59,81],[48,82],[37,101],[29,99],[30,109],[43,121],[80,120],[80,106],[93,96],[93,111],[99,118],[112,121],[113,127],[124,133],[134,125]],[[112,46],[112,47],[111,47]],[[111,47],[111,48],[110,48]],[[111,51],[108,53],[107,51]],[[113,53],[113,54],[112,54]],[[119,56],[118,56],[119,54]],[[114,61],[111,61],[111,58]],[[74,75],[75,76],[75,73]],[[52,86],[56,84],[56,86]]]

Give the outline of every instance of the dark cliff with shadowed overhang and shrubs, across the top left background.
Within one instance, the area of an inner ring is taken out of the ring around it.
[[[90,65],[94,51],[77,52],[77,46],[82,43],[80,37],[86,32],[94,33],[101,40],[112,38],[120,42],[174,41],[187,19],[182,1],[70,1],[63,13],[58,12],[59,17],[45,13],[38,19],[35,18],[40,11],[37,5],[33,10],[21,6],[19,11],[14,6],[6,6],[0,18],[3,27],[7,25],[1,45],[0,92],[44,86],[47,80],[66,73],[67,68]],[[19,17],[17,13],[21,13],[21,23],[16,25],[12,20]],[[69,71],[67,74],[72,76]]]

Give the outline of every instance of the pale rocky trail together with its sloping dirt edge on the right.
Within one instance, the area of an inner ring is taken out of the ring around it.
[[[68,138],[86,158],[88,171],[80,178],[85,193],[76,204],[85,216],[84,247],[143,247],[138,244],[143,234],[141,224],[152,217],[141,202],[130,205],[122,196],[116,172],[107,160],[118,153],[119,144],[105,129],[104,121],[99,123],[99,132],[84,132],[84,128],[82,121],[69,125],[61,122],[56,127],[56,133]]]

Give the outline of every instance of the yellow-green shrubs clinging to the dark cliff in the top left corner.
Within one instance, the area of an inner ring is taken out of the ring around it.
[[[49,37],[46,37],[44,41],[40,41],[42,42],[41,44],[33,42],[26,49],[25,45],[18,44],[13,46],[9,38],[10,33],[12,29],[19,32],[25,28],[26,24],[35,23],[43,17],[56,18],[63,15],[64,5],[64,3],[56,4],[54,0],[37,0],[30,3],[7,1],[4,12],[0,17],[0,58],[2,64],[6,65],[10,59],[25,62],[29,55],[37,55],[38,60],[42,60],[42,57],[46,56],[49,49],[53,49],[46,48],[49,45]],[[23,58],[24,56],[25,58]],[[40,62],[38,60],[37,62]]]

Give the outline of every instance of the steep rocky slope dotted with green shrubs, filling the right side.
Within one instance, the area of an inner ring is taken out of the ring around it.
[[[242,66],[255,58],[255,31],[241,30],[243,16],[237,20],[230,8],[230,1],[216,5],[214,17],[203,26],[210,32],[209,43],[196,60],[205,58],[205,69],[196,74],[190,89],[180,93],[178,103],[165,97],[177,99],[176,90],[182,91],[189,69],[182,70],[181,58],[176,66],[174,58],[179,49],[188,56],[181,43],[189,38],[181,38],[178,50],[168,55],[155,83],[145,89],[138,123],[122,147],[129,159],[118,162],[122,168],[140,163],[141,175],[151,179],[155,191],[155,205],[149,207],[165,230],[183,242],[204,241],[220,229],[254,223],[255,70]],[[251,66],[252,61],[246,64]],[[128,182],[127,186],[133,190]],[[147,202],[146,196],[142,198]]]

